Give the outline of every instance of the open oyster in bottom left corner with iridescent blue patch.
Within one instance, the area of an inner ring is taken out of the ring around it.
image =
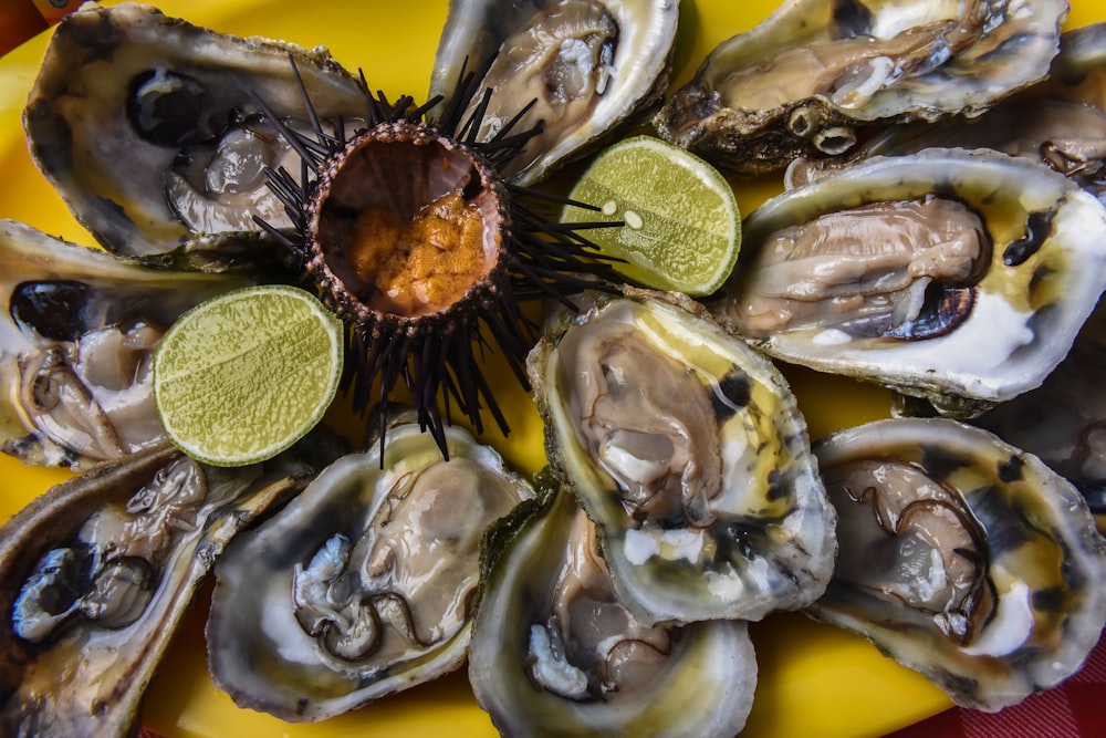
[[[127,736],[227,541],[299,464],[216,469],[161,445],[52,488],[0,528],[0,732]]]

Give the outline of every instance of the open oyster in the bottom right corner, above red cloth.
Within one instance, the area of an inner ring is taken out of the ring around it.
[[[998,710],[1079,668],[1106,624],[1106,540],[1064,479],[948,418],[877,420],[815,453],[841,548],[810,614],[968,707]]]

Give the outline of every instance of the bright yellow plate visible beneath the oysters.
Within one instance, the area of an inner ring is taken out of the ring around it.
[[[217,31],[286,39],[305,46],[326,45],[348,69],[363,69],[373,89],[389,97],[426,96],[446,0],[165,0],[159,7]],[[674,84],[693,74],[723,39],[747,30],[773,9],[773,0],[684,0]],[[1078,0],[1067,25],[1106,20],[1106,9]],[[31,163],[20,123],[45,48],[36,38],[0,60],[0,217],[14,218],[80,243],[91,238],[69,215]],[[778,176],[734,183],[748,214],[781,188]],[[886,392],[848,380],[786,368],[789,380],[817,438],[888,413]],[[502,386],[514,387],[507,378]],[[541,422],[521,389],[502,397],[512,426],[509,439],[489,434],[517,467],[534,471],[543,462]],[[0,458],[7,479],[0,520],[7,520],[65,472],[22,466]],[[472,698],[463,671],[385,698],[355,713],[310,726],[288,725],[239,710],[215,688],[207,673],[202,641],[206,594],[182,624],[147,695],[143,724],[174,738],[223,736],[495,736]],[[880,736],[933,715],[950,705],[922,677],[883,657],[865,641],[802,615],[771,615],[752,625],[760,671],[757,697],[744,736]]]

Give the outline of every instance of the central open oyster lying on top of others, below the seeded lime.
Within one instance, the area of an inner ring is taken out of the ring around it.
[[[782,375],[682,295],[592,295],[528,362],[550,464],[644,625],[821,594],[834,516]]]

